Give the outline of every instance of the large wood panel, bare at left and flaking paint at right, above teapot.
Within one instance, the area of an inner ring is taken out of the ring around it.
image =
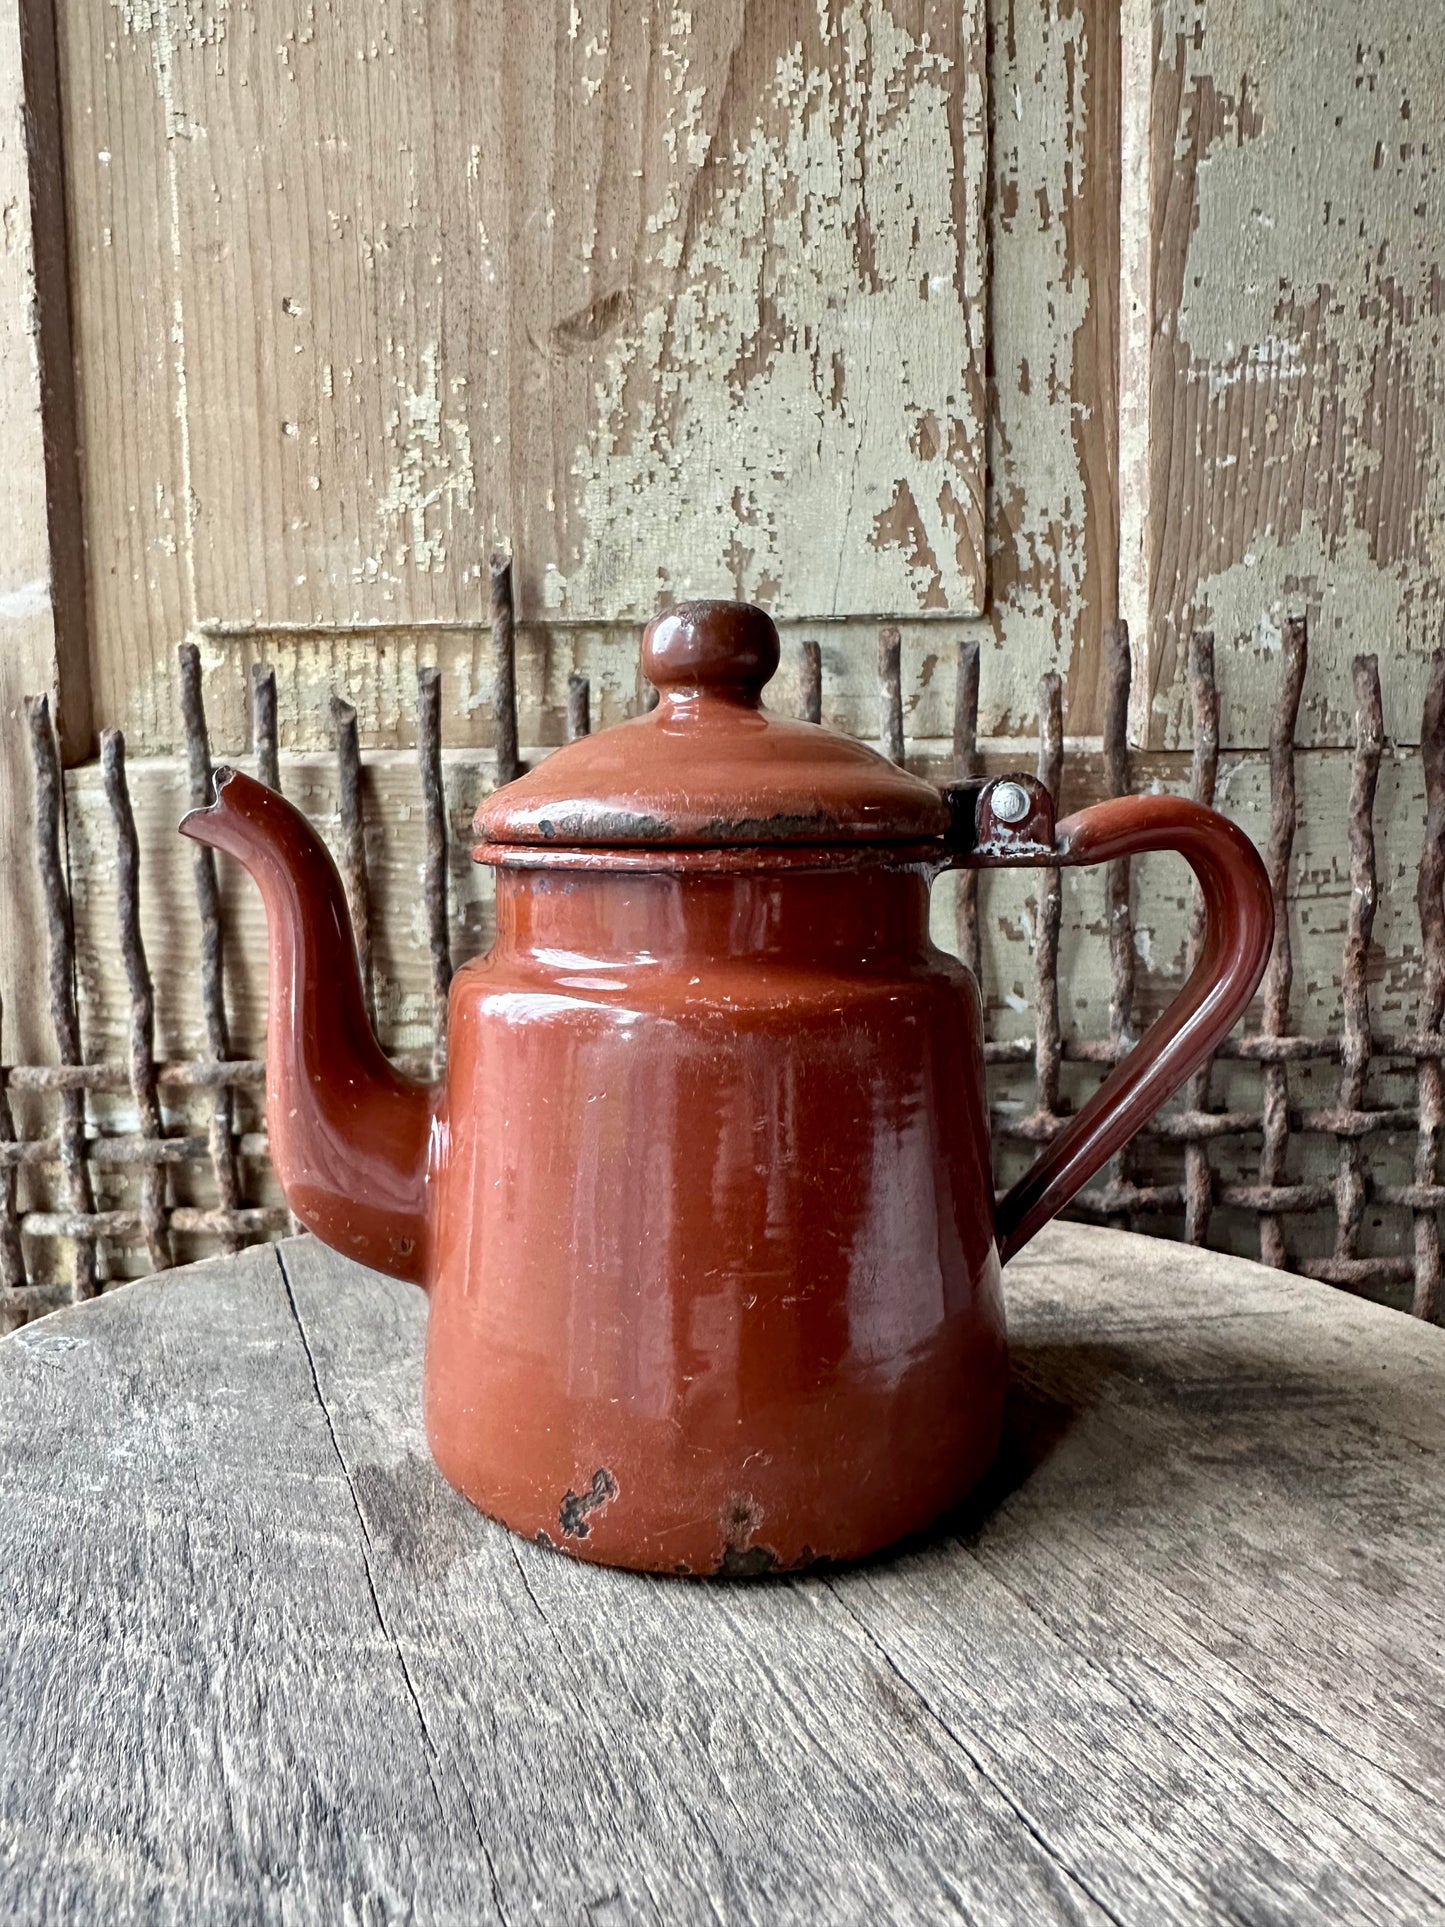
[[[981,0],[60,23],[104,721],[497,541],[526,619],[983,607]]]

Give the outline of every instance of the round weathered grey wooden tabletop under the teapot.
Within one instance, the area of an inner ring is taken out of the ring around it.
[[[1445,1919],[1445,1335],[1054,1227],[998,1470],[894,1557],[472,1513],[424,1301],[310,1241],[0,1343],[0,1914]]]

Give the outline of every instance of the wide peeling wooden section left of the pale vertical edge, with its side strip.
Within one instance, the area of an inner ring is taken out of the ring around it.
[[[913,734],[967,630],[986,734],[1052,665],[1096,728],[1114,10],[462,13],[60,0],[98,723],[173,750],[195,636],[223,748],[254,657],[287,748],[337,678],[405,742],[418,661],[486,748],[511,540],[538,744],[572,667],[624,713],[617,619],[701,588],[827,622],[844,726],[857,617],[913,611]]]

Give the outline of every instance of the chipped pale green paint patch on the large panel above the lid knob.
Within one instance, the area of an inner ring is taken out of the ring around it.
[[[586,534],[547,576],[549,613],[719,592],[811,617],[983,607],[981,15],[959,46],[886,6],[823,6],[686,206],[674,170],[647,218],[655,285],[595,385]],[[669,154],[696,162],[686,35],[663,75]]]

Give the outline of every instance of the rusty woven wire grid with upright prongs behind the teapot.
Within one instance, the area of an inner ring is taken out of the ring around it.
[[[491,570],[493,696],[497,742],[511,771],[520,769],[516,734],[514,622],[511,567]],[[1424,852],[1416,877],[1422,990],[1410,1035],[1379,1035],[1370,1012],[1370,948],[1378,902],[1376,786],[1385,746],[1379,674],[1374,657],[1354,663],[1356,728],[1349,802],[1349,923],[1341,956],[1343,1016],[1329,1035],[1297,1035],[1291,1023],[1293,954],[1287,886],[1300,809],[1297,792],[1295,721],[1300,705],[1308,634],[1291,620],[1281,636],[1281,676],[1270,730],[1268,869],[1275,890],[1275,950],[1256,1010],[1200,1069],[1175,1100],[1081,1195],[1077,1210],[1117,1226],[1166,1229],[1204,1243],[1220,1214],[1245,1214],[1256,1227],[1258,1256],[1354,1291],[1393,1293],[1430,1320],[1445,1318],[1441,1281],[1441,1210],[1445,1208],[1445,651],[1432,665],[1422,723],[1426,790]],[[181,707],[195,802],[210,798],[210,744],[202,707],[200,661],[193,646],[179,651]],[[1195,715],[1191,792],[1216,796],[1218,688],[1214,638],[1198,634],[1189,647]],[[254,767],[260,780],[281,786],[277,698],[272,669],[252,669]],[[435,669],[418,673],[418,786],[426,827],[422,896],[430,952],[434,1048],[401,1052],[399,1068],[435,1073],[445,1064],[447,989],[453,975],[453,917],[447,873],[447,805],[441,765],[441,680]],[[1104,663],[1104,794],[1125,794],[1131,755],[1125,736],[1129,705],[1129,636],[1110,626]],[[823,657],[817,642],[801,644],[800,707],[809,721],[823,713]],[[892,624],[879,634],[880,742],[904,759],[900,638]],[[1038,779],[1058,798],[1067,786],[1062,684],[1042,678],[1038,692]],[[77,958],[66,867],[62,863],[64,782],[46,701],[27,709],[35,771],[35,859],[46,911],[48,1002],[54,1064],[0,1068],[0,1328],[23,1322],[67,1299],[104,1289],[137,1264],[156,1270],[173,1262],[175,1239],[235,1251],[245,1241],[293,1227],[270,1177],[260,1100],[264,1066],[229,1054],[229,1025],[222,967],[222,898],[214,854],[195,850],[195,892],[200,913],[200,989],[206,1052],[191,1062],[154,1058],[156,1008],[141,937],[141,861],[125,777],[125,744],[118,730],[102,740],[102,782],[112,819],[118,867],[118,931],[131,1004],[125,1062],[87,1064],[75,996]],[[590,726],[590,690],[572,674],[566,694],[566,738]],[[366,779],[356,713],[341,698],[331,707],[339,786],[337,865],[351,904],[366,983],[374,1008],[372,950],[376,919],[366,875]],[[983,771],[979,746],[979,653],[959,649],[954,711],[954,775]],[[981,898],[998,879],[963,873],[956,892],[956,946],[975,971],[986,969],[981,942]],[[990,1075],[996,1162],[1031,1156],[1062,1129],[1083,1089],[1069,1081],[1108,1071],[1139,1039],[1143,1016],[1137,985],[1137,919],[1129,863],[1102,877],[1104,933],[1110,956],[1106,1035],[1077,1035],[1065,1025],[1060,996],[1060,931],[1064,879],[1040,869],[1033,884],[1033,1035],[985,1043]],[[1098,888],[1098,883],[1094,884]],[[1198,913],[1191,952],[1200,938]],[[0,1039],[2,1044],[2,1039]],[[1391,1068],[1414,1073],[1412,1104],[1372,1102],[1372,1073]],[[1300,1085],[1335,1073],[1333,1102],[1302,1102]],[[1229,1071],[1225,1077],[1223,1073]],[[1300,1083],[1291,1083],[1291,1073]],[[1239,1079],[1250,1079],[1252,1104],[1239,1102]],[[1229,1108],[1216,1104],[1216,1085]],[[135,1125],[116,1129],[96,1100],[129,1098]],[[37,1122],[39,1120],[39,1122]],[[1381,1143],[1408,1133],[1412,1168],[1405,1181],[1391,1170],[1399,1160],[1378,1154]],[[1314,1175],[1291,1177],[1314,1148]],[[1318,1148],[1333,1147],[1333,1177],[1320,1168]],[[46,1208],[27,1206],[21,1174],[48,1179]],[[123,1208],[96,1204],[94,1177],[125,1174]],[[185,1175],[187,1185],[177,1179]],[[195,1195],[195,1175],[208,1179],[214,1204],[183,1202]],[[1397,1214],[1399,1237],[1389,1251],[1366,1251],[1368,1210]],[[1329,1226],[1327,1253],[1308,1254],[1295,1226]],[[1237,1249],[1237,1247],[1235,1247]],[[125,1266],[114,1260],[125,1258]]]

